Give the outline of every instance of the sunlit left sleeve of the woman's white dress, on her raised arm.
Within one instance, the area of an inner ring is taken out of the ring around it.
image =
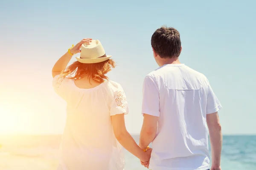
[[[52,86],[55,92],[61,96],[65,101],[70,98],[70,79],[62,78],[60,75],[56,75],[52,80]]]

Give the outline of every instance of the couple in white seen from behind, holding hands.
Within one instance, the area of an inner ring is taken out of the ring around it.
[[[209,81],[180,63],[177,29],[157,29],[151,46],[159,68],[144,79],[139,145],[125,127],[125,92],[106,76],[115,62],[99,40],[81,40],[55,63],[53,87],[67,102],[58,170],[123,170],[122,147],[151,170],[221,170],[221,104]]]

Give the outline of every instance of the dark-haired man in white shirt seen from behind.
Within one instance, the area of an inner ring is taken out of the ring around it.
[[[160,66],[143,84],[143,127],[140,148],[152,142],[151,170],[208,170],[208,130],[211,170],[221,170],[221,109],[207,78],[180,63],[180,33],[161,27],[151,37],[154,59]],[[143,164],[143,163],[142,163]],[[146,167],[147,163],[144,164]]]

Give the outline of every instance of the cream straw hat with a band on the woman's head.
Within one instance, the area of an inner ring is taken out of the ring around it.
[[[80,57],[76,57],[76,59],[80,63],[100,63],[111,57],[112,55],[106,55],[99,40],[92,40],[90,43],[82,44]]]

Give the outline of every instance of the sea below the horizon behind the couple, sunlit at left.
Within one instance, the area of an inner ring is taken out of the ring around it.
[[[139,135],[133,135],[139,141]],[[0,136],[0,170],[56,170],[61,135]],[[210,146],[209,146],[210,148]],[[125,170],[148,170],[125,152]],[[222,170],[256,170],[256,135],[224,135]]]

